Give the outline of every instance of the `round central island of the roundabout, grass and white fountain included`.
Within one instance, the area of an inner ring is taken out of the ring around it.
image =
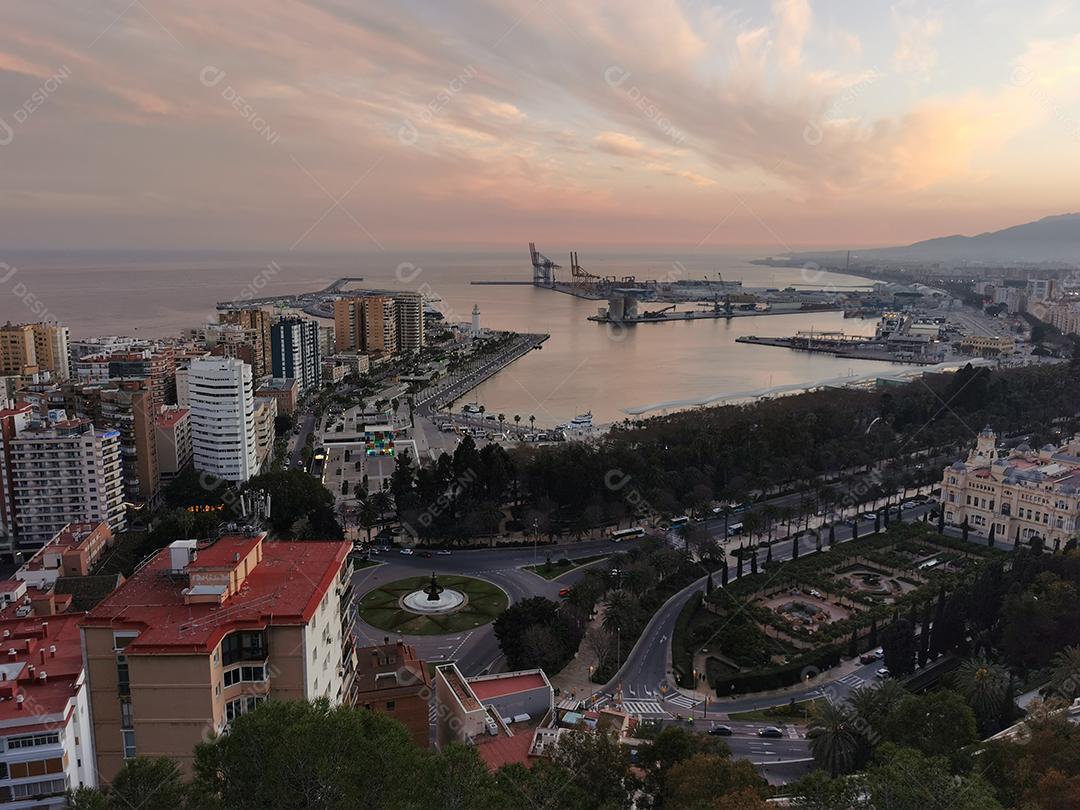
[[[507,609],[507,593],[486,580],[461,575],[409,577],[386,582],[360,599],[360,618],[374,627],[405,635],[443,635],[474,630]]]

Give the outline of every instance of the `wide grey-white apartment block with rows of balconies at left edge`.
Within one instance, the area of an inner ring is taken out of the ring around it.
[[[69,523],[126,528],[120,431],[89,419],[31,423],[3,435],[0,451],[19,549],[40,548]]]

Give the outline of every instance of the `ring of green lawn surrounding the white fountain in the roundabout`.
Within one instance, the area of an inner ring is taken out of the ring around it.
[[[507,609],[510,599],[498,585],[472,577],[441,576],[438,584],[460,591],[468,597],[464,607],[453,613],[419,616],[401,607],[402,596],[427,588],[431,577],[409,577],[387,582],[364,594],[360,618],[374,627],[405,635],[442,635],[472,630],[494,621]]]

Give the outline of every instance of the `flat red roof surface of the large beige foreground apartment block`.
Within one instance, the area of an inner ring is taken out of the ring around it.
[[[222,544],[231,561],[238,548],[249,550],[251,541],[224,537],[216,544]],[[83,625],[139,631],[126,648],[129,654],[139,654],[206,652],[233,630],[307,624],[334,586],[350,549],[350,543],[337,540],[266,541],[261,562],[240,592],[220,605],[185,605],[186,578],[170,575],[168,549],[162,549],[87,613]],[[200,563],[207,553],[212,559],[216,556],[212,549],[202,550]]]

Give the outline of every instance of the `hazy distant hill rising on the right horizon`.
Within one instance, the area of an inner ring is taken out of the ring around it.
[[[939,237],[907,247],[860,251],[861,257],[924,261],[1080,264],[1080,214],[1059,214],[977,237]]]

